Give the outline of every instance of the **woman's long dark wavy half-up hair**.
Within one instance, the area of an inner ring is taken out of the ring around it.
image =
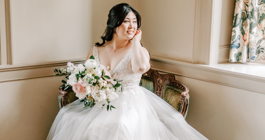
[[[141,26],[141,16],[127,3],[120,3],[112,7],[108,13],[107,27],[104,31],[104,34],[101,36],[103,42],[100,44],[95,43],[96,46],[102,46],[105,44],[105,41],[112,40],[113,33],[115,29],[123,23],[123,20],[128,15],[129,12],[133,12],[137,19],[137,29]]]

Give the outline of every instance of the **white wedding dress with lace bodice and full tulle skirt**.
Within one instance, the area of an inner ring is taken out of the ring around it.
[[[99,60],[96,46],[93,56]],[[131,57],[132,50],[112,72],[123,80],[123,92],[110,102],[116,109],[84,108],[78,99],[59,111],[47,140],[207,140],[166,101],[139,86]]]

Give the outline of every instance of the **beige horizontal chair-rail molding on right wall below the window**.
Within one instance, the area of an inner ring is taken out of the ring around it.
[[[265,84],[265,77],[229,72],[158,56],[151,56],[151,60],[152,68],[161,72],[265,94],[265,87],[262,86]]]

